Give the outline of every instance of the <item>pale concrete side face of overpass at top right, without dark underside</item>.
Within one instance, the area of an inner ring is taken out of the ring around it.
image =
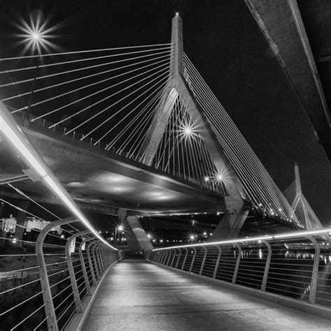
[[[295,0],[245,0],[331,161],[331,115]]]

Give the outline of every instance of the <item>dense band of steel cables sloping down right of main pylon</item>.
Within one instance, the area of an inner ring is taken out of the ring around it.
[[[184,54],[184,78],[189,84],[217,140],[235,168],[249,199],[256,209],[271,217],[300,226],[300,220],[267,173],[262,163],[230,119],[226,110],[209,89],[203,78]]]

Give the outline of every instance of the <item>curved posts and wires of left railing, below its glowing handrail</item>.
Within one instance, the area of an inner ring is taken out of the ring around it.
[[[61,235],[54,231],[58,226]],[[84,313],[122,253],[80,228],[80,221],[68,219],[26,233],[23,240],[0,238],[1,330],[63,330]]]

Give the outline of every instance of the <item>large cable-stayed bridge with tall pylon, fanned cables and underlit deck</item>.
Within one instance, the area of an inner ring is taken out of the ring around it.
[[[184,53],[179,15],[169,44],[39,50],[1,59],[1,65],[10,116],[22,123],[60,182],[85,190],[95,204],[102,204],[96,193],[108,193],[103,205],[139,212],[223,212],[225,237],[238,234],[250,208],[303,227]],[[79,169],[71,172],[75,161]]]

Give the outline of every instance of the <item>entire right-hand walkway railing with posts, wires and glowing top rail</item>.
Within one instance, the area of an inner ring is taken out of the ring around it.
[[[148,260],[331,307],[331,229],[154,249]]]

